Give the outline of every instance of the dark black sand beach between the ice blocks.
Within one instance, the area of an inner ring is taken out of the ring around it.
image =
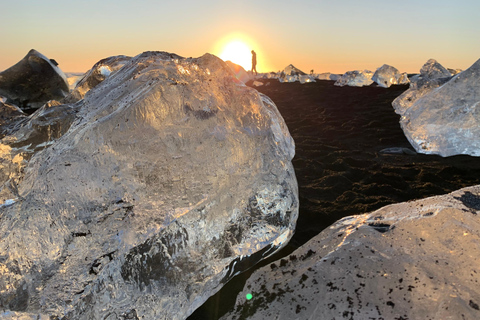
[[[342,217],[480,184],[480,158],[380,152],[391,147],[413,150],[391,105],[408,86],[261,81],[269,85],[256,89],[275,102],[295,140],[300,197],[295,235],[261,266],[291,253]],[[188,319],[221,317],[251,271],[229,282]]]

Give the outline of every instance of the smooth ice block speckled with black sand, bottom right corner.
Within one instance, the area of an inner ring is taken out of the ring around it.
[[[479,241],[480,186],[346,217],[255,271],[222,319],[478,319]]]

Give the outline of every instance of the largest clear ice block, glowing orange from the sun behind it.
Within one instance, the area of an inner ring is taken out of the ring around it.
[[[294,142],[220,59],[146,52],[70,108],[31,159],[2,140],[0,319],[185,319],[292,236]]]

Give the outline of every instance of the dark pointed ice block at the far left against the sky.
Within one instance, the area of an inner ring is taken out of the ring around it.
[[[68,94],[68,82],[57,65],[55,60],[30,50],[17,64],[0,72],[0,95],[23,110],[62,99]]]

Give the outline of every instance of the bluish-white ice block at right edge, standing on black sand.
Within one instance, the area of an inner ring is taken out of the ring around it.
[[[480,156],[480,60],[406,109],[400,125],[417,152]]]

